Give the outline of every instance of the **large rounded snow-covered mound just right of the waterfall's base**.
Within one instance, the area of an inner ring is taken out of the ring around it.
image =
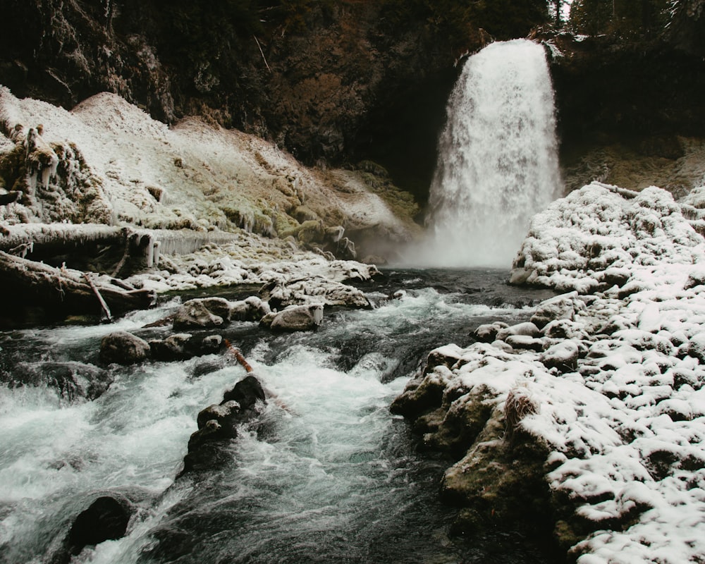
[[[670,192],[651,187],[632,194],[592,183],[534,216],[513,283],[588,293],[626,283],[635,267],[700,260],[703,239]]]

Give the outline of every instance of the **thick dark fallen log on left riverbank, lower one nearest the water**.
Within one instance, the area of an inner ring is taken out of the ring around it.
[[[119,314],[147,309],[157,300],[154,290],[124,290],[108,277],[103,277],[105,283],[94,282],[94,290],[82,274],[0,251],[0,287],[6,289],[6,299],[11,297],[16,304],[38,305],[54,314],[92,314],[102,307],[96,300],[98,292],[106,307]]]

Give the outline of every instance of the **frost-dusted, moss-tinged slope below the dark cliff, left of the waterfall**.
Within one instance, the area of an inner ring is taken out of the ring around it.
[[[276,237],[293,230],[296,236],[313,220],[355,230],[383,226],[401,240],[417,229],[353,171],[307,168],[269,142],[196,118],[168,128],[116,94],[97,94],[66,111],[0,87],[0,130],[0,168],[14,184],[5,188],[25,192],[20,202],[0,207],[4,223],[241,228]],[[44,173],[44,189],[28,194],[26,186],[37,180],[23,180],[20,144],[37,130],[59,171]],[[299,243],[324,243],[320,231],[320,241],[311,240],[309,229]]]

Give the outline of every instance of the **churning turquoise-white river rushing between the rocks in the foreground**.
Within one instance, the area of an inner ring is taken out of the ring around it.
[[[0,333],[0,563],[50,563],[102,494],[137,511],[123,539],[75,563],[548,563],[518,533],[450,537],[455,510],[437,494],[451,461],[419,453],[388,406],[431,349],[525,321],[550,294],[507,286],[501,270],[384,274],[364,288],[374,309],[326,311],[318,331],[221,331],[279,401],[259,434],[232,442],[228,465],[197,480],[175,479],[196,415],[245,370],[230,355],[98,359],[111,331],[165,336],[141,328],[173,302],[110,325]]]

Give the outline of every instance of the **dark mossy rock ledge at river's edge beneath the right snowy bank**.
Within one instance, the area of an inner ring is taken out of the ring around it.
[[[506,393],[453,378],[451,369],[464,362],[458,353],[455,345],[432,351],[391,411],[422,437],[420,449],[456,461],[440,484],[443,503],[459,509],[452,534],[515,529],[539,544],[545,540],[553,552],[556,500],[545,480],[548,446],[508,417]]]

